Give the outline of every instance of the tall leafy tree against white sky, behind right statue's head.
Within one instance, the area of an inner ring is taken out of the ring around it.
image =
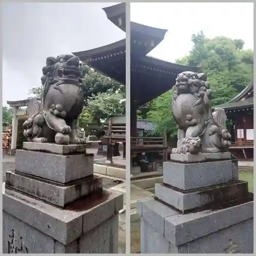
[[[236,89],[230,95],[230,99],[247,86],[253,77],[253,51],[243,49],[242,39],[232,40],[225,36],[209,39],[201,31],[194,34],[191,40],[194,47],[190,54],[178,59],[177,63],[201,67],[212,87],[222,81],[225,83],[224,86]],[[213,91],[215,93],[217,88]]]

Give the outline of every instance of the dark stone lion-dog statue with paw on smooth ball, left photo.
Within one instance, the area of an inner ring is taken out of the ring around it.
[[[28,105],[24,136],[31,142],[86,143],[77,132],[84,104],[79,58],[73,54],[48,57],[42,74],[42,95]]]

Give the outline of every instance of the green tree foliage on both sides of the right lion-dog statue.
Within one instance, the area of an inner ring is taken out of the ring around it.
[[[212,90],[213,106],[226,103],[241,92],[253,77],[253,51],[244,50],[242,39],[218,36],[207,38],[203,32],[191,37],[194,43],[190,53],[176,60],[176,63],[201,67],[207,75]],[[151,103],[147,118],[155,121],[155,133],[163,131],[169,137],[177,134],[172,115],[172,91],[169,91]]]

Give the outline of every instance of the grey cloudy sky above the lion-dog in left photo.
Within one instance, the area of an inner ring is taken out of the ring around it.
[[[102,8],[115,3],[11,3],[3,13],[3,105],[40,86],[48,56],[90,50],[125,38]]]

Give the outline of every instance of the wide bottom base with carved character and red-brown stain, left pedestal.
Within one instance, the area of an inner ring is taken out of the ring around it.
[[[103,190],[67,209],[5,188],[3,253],[117,253],[123,195]]]

